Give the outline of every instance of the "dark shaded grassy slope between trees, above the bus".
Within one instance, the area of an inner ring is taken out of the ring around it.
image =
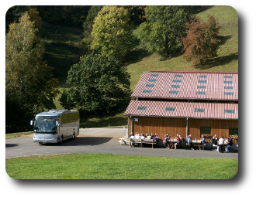
[[[83,29],[46,23],[43,29],[47,63],[54,68],[54,77],[60,81],[58,87],[64,87],[67,71],[85,54],[81,42]]]

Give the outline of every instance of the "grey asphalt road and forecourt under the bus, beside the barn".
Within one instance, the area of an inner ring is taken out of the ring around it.
[[[71,154],[71,153],[112,153],[116,155],[145,155],[171,158],[238,158],[238,153],[217,153],[216,151],[199,150],[168,150],[157,148],[130,148],[120,145],[126,131],[123,127],[80,129],[80,134],[74,140],[62,144],[33,143],[33,134],[5,141],[5,158],[27,155]]]

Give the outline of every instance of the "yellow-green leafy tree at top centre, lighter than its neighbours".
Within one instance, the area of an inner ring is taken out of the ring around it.
[[[123,59],[133,49],[133,23],[125,8],[105,6],[92,25],[92,49]]]

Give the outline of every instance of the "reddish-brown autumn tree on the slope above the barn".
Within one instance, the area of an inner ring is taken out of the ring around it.
[[[200,63],[206,59],[212,59],[217,56],[217,50],[220,47],[218,21],[213,15],[208,15],[208,21],[202,22],[202,19],[194,19],[191,23],[186,23],[189,29],[188,36],[182,39],[185,54],[183,58],[192,63]]]

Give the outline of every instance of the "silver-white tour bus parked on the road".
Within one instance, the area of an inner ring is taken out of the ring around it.
[[[62,143],[78,136],[79,112],[77,110],[47,110],[36,114],[33,125],[33,142]]]

